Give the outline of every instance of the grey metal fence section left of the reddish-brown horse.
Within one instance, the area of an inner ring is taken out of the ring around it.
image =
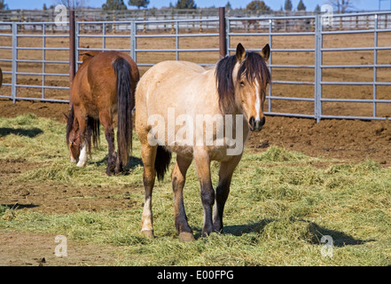
[[[27,33],[29,26],[35,29],[39,27],[40,32]],[[0,98],[12,99],[14,102],[16,99],[66,102],[64,98],[49,99],[45,96],[47,90],[69,92],[69,83],[63,86],[51,83],[53,78],[69,77],[69,56],[66,56],[69,54],[69,44],[56,47],[48,44],[48,40],[54,38],[63,39],[64,43],[69,38],[69,31],[64,28],[63,33],[55,34],[52,32],[54,26],[54,22],[0,22],[0,64],[3,67],[5,91],[0,92]],[[56,54],[59,52],[63,56]],[[65,67],[62,72],[58,71],[59,65]],[[34,96],[26,96],[25,92],[31,89],[40,91],[41,96],[37,97],[36,92]]]

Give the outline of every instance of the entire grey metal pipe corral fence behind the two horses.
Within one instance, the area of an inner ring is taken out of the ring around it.
[[[266,114],[309,117],[317,122],[325,118],[387,120],[391,116],[391,12],[334,14],[332,21],[321,15],[262,15],[223,17],[223,22],[222,30],[221,17],[76,21],[75,54],[82,50],[126,51],[143,73],[167,57],[190,58],[210,66],[219,59],[219,52],[230,54],[239,42],[254,51],[270,43],[273,84]],[[27,26],[33,25],[40,31],[29,32]],[[5,77],[0,98],[68,102],[69,48],[64,46],[69,43],[69,28],[54,28],[54,22],[0,22],[0,51],[6,54],[0,58]],[[23,46],[23,39],[40,39],[42,44]],[[56,43],[48,46],[51,40]],[[39,59],[28,58],[26,52],[39,52]],[[39,72],[27,72],[20,70],[20,64],[41,67]],[[35,80],[20,83],[20,76]],[[62,78],[62,83],[53,85],[55,77]],[[41,96],[24,96],[23,88],[41,90]],[[63,91],[62,99],[46,95],[53,90]]]

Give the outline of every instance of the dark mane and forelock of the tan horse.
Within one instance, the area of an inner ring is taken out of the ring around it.
[[[217,63],[215,70],[219,104],[225,113],[236,107],[235,82],[233,82],[232,73],[237,62],[236,55],[227,56]],[[246,59],[239,67],[237,80],[239,81],[243,75],[250,83],[256,79],[260,83],[261,90],[264,90],[271,82],[270,71],[265,60],[261,54],[254,51],[246,52]]]

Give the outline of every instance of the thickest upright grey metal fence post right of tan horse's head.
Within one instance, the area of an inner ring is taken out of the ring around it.
[[[315,18],[315,93],[314,116],[320,122],[322,115],[322,18]]]

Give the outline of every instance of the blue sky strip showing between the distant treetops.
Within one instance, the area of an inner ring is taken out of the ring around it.
[[[90,7],[101,7],[102,4],[106,3],[106,0],[86,0]],[[195,0],[198,7],[210,7],[210,6],[224,6],[228,0]],[[244,8],[246,4],[252,0],[229,0],[233,8]],[[279,10],[284,5],[285,0],[264,0],[267,5],[273,10]],[[297,7],[300,0],[292,0],[293,7]],[[381,0],[381,10],[389,10],[391,0]],[[56,0],[5,0],[5,4],[8,4],[10,9],[42,9],[43,4],[50,6],[56,4]],[[127,4],[128,0],[124,0]],[[303,0],[303,3],[307,7],[307,11],[314,11],[317,4],[325,4],[327,0]],[[356,0],[356,10],[359,11],[373,11],[379,9],[379,0]],[[168,6],[170,3],[176,4],[176,0],[150,0],[149,8],[162,6]],[[132,7],[135,8],[135,7]]]

